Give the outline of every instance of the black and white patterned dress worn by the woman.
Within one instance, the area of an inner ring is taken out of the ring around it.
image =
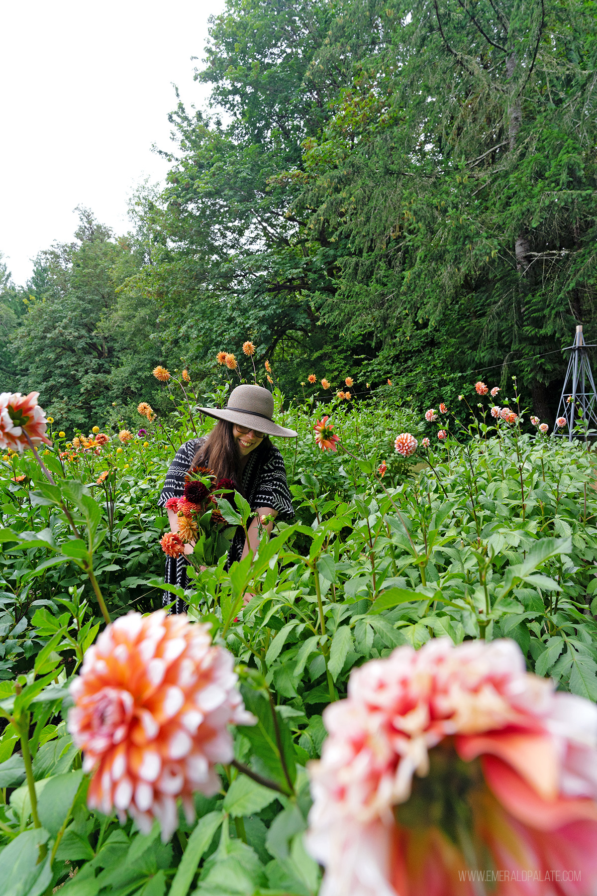
[[[168,498],[179,498],[183,495],[184,477],[191,467],[193,457],[204,441],[204,438],[191,439],[182,444],[175,453],[175,458],[166,473],[166,482],[162,494],[159,496],[158,507],[165,507]],[[294,518],[292,498],[286,482],[284,459],[274,444],[265,442],[251,452],[243,470],[241,485],[252,511],[257,510],[258,507],[271,507],[277,511],[277,520],[287,522]],[[241,559],[243,547],[244,531],[242,526],[238,526],[228,551],[228,568],[235,560]],[[184,556],[166,557],[164,582],[178,585],[180,588],[187,588],[186,567],[187,560]],[[164,591],[164,605],[171,603],[172,600],[173,595],[169,591]],[[184,601],[177,599],[171,612],[183,613]]]

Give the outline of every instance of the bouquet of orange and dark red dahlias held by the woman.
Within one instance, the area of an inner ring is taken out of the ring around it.
[[[193,566],[211,566],[228,553],[235,536],[222,515],[218,501],[234,503],[235,483],[232,479],[216,479],[207,467],[192,467],[184,477],[184,495],[168,498],[166,508],[178,515],[178,532],[168,532],[162,549],[168,556],[181,556],[184,545],[194,545],[188,555]]]

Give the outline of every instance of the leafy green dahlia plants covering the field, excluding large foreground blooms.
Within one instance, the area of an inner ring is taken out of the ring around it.
[[[220,383],[214,400],[226,391]],[[55,434],[41,452],[55,486],[30,452],[3,461],[0,866],[31,896],[59,883],[65,896],[314,896],[304,770],[320,754],[321,713],[355,665],[397,645],[507,635],[529,669],[597,699],[597,491],[582,442],[483,415],[467,430],[462,404],[427,424],[380,398],[349,409],[276,390],[277,419],[299,433],[280,440],[297,519],[229,571],[222,561],[193,575],[185,594],[235,655],[259,724],[236,731],[221,793],[197,795],[198,822],[181,812],[172,842],[159,845],[158,824],[144,835],[90,811],[66,687],[103,626],[98,595],[113,617],[161,604],[158,491],[178,444],[207,426],[174,394],[177,422],[158,418],[136,440],[96,451]],[[324,414],[340,435],[335,453],[314,439]],[[420,443],[408,461],[394,452],[404,430]],[[236,504],[246,524],[248,506]]]

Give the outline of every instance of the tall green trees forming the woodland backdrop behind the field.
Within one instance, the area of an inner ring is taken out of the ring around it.
[[[419,404],[501,367],[552,420],[594,330],[596,27],[590,0],[228,0],[132,234],[83,210],[4,284],[10,387],[90,426],[149,397],[141,361],[209,389],[249,338],[289,395],[348,358]]]

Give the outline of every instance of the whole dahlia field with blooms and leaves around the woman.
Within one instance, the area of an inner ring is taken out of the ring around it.
[[[157,501],[226,403],[220,354],[208,399],[158,366],[171,414],[109,434],[0,396],[0,896],[473,896],[480,868],[535,869],[494,875],[504,896],[554,869],[581,877],[549,892],[595,892],[584,439],[515,384],[419,414],[350,376],[289,403],[267,364],[296,519],[167,586],[187,622],[160,612]]]

